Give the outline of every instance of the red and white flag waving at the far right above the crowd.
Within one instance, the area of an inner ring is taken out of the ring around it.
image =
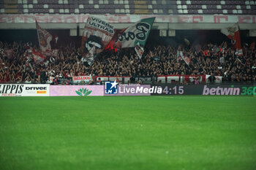
[[[228,28],[222,28],[221,32],[231,39],[232,44],[236,47],[236,55],[243,55],[238,23]]]

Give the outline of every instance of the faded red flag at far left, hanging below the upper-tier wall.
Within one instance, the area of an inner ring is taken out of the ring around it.
[[[42,52],[46,50],[51,50],[50,47],[50,41],[53,39],[53,36],[48,33],[44,28],[41,28],[36,20],[37,24],[37,36],[38,36],[38,41],[39,41],[39,46]]]

